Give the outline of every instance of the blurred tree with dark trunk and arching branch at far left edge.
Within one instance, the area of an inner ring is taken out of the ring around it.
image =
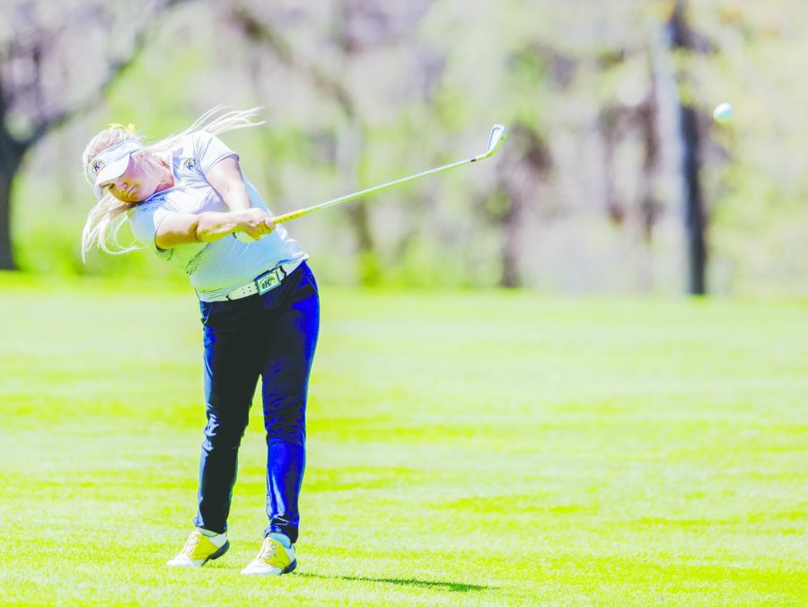
[[[144,47],[155,18],[185,1],[16,0],[4,4],[0,30],[0,269],[16,268],[11,189],[25,155],[48,132],[100,101]]]

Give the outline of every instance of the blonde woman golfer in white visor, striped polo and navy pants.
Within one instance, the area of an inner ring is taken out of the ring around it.
[[[145,248],[185,270],[199,298],[207,425],[198,512],[196,528],[168,565],[201,567],[230,546],[238,450],[260,377],[269,524],[242,574],[279,575],[296,566],[306,390],[320,303],[308,256],[272,223],[259,192],[242,177],[238,154],[216,137],[260,124],[256,113],[211,110],[153,145],[144,145],[131,125],[94,136],[83,167],[98,204],[84,225],[82,251],[137,248],[117,242],[128,222]]]

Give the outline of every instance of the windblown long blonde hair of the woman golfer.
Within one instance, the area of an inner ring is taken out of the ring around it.
[[[260,108],[252,108],[250,110],[226,111],[224,106],[218,105],[202,114],[189,128],[186,128],[181,133],[167,136],[154,144],[145,145],[145,150],[151,154],[169,151],[179,145],[183,137],[193,135],[199,131],[219,135],[237,128],[258,127],[264,124],[263,120],[255,119],[260,110]],[[128,127],[112,125],[92,137],[82,154],[84,175],[86,176],[87,167],[98,154],[101,154],[110,145],[115,145],[122,141],[134,141],[143,145],[140,136],[137,135],[132,125]],[[83,261],[86,261],[87,251],[90,251],[93,245],[97,246],[101,251],[113,255],[120,255],[143,248],[136,246],[134,243],[124,247],[118,242],[120,229],[127,221],[127,211],[138,204],[140,203],[123,202],[110,193],[105,193],[101,197],[98,203],[90,209],[82,231]]]

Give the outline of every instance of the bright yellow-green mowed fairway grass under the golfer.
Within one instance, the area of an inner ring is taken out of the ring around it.
[[[189,290],[0,277],[0,603],[804,604],[808,304],[321,288],[297,571],[259,401],[195,514]]]

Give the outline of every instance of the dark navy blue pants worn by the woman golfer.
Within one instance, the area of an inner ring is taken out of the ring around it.
[[[320,326],[317,283],[303,263],[264,295],[202,302],[200,308],[207,426],[194,524],[217,533],[227,530],[239,445],[260,377],[267,430],[264,535],[283,532],[294,542],[305,467],[306,391]]]

